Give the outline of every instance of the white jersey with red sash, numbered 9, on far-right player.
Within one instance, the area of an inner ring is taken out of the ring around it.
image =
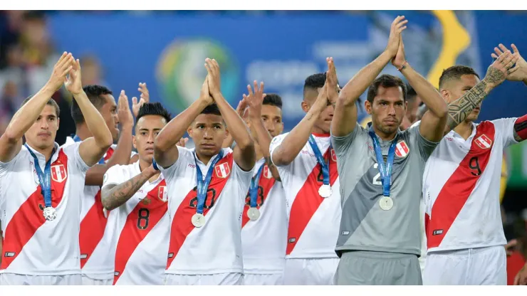
[[[428,252],[505,245],[499,189],[503,149],[516,144],[516,118],[472,125],[468,139],[454,131],[424,169]]]

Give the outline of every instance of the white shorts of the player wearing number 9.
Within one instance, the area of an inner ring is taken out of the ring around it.
[[[503,245],[432,252],[423,285],[507,285],[506,261]]]

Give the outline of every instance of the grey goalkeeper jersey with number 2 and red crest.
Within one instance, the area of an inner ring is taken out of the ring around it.
[[[339,257],[342,250],[420,255],[419,200],[424,164],[439,143],[424,139],[418,125],[398,132],[390,188],[393,206],[385,211],[380,206],[382,183],[368,130],[357,124],[347,136],[331,136],[343,208],[335,250]],[[392,141],[377,139],[386,162]]]

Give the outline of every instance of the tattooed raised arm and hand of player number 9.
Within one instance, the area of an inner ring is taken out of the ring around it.
[[[489,95],[491,90],[503,83],[507,76],[508,69],[516,63],[516,60],[518,60],[517,56],[513,56],[511,51],[506,51],[489,66],[483,80],[476,84],[474,88],[467,91],[463,96],[459,97],[459,99],[449,104],[449,116],[444,134],[448,134],[457,125],[464,122],[472,110],[474,110],[475,107],[479,107],[483,99]]]

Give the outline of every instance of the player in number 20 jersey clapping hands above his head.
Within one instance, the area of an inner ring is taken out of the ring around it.
[[[218,63],[205,65],[199,99],[154,144],[171,219],[166,285],[244,285],[241,218],[256,153],[244,120],[221,95]],[[195,149],[176,147],[186,130]],[[221,148],[227,133],[234,149]]]

